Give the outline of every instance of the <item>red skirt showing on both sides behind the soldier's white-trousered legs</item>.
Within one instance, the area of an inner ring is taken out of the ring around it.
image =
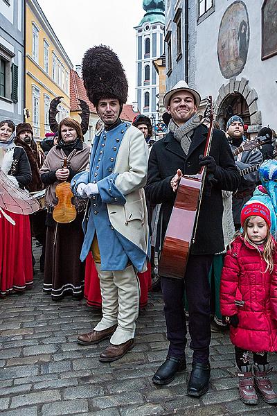
[[[143,308],[148,304],[148,291],[150,291],[152,286],[150,263],[148,263],[148,270],[143,273],[138,273],[138,277],[139,284],[141,286],[139,306]],[[84,274],[84,298],[87,300],[88,306],[96,308],[102,307],[100,282],[91,252],[89,252],[86,260],[86,270]]]

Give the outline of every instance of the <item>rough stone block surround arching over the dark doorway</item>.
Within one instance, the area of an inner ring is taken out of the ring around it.
[[[215,114],[217,114],[217,119],[221,124],[220,127],[225,129],[225,125],[222,124],[225,123],[226,119],[226,114],[223,114],[224,110],[226,110],[226,105],[230,105],[233,99],[239,99],[240,96],[242,103],[245,103],[244,109],[248,107],[249,111],[250,125],[247,131],[249,133],[256,133],[262,127],[262,114],[258,110],[258,94],[256,89],[249,87],[249,80],[245,78],[241,78],[241,80],[237,80],[235,77],[231,78],[229,83],[226,85],[222,84],[220,87],[215,101]]]

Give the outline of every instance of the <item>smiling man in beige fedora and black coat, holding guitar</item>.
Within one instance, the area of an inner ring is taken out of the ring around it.
[[[208,273],[213,254],[224,250],[222,189],[235,191],[240,182],[224,132],[214,130],[210,155],[203,156],[208,129],[197,114],[200,100],[199,93],[188,87],[184,80],[180,80],[165,94],[163,103],[168,113],[170,132],[152,147],[145,187],[150,203],[161,204],[157,236],[159,247],[156,248],[161,252],[181,176],[196,174],[201,166],[207,166],[195,243],[191,246],[184,280],[161,277],[170,346],[166,361],[152,379],[159,385],[167,384],[177,372],[186,369],[186,315],[183,301],[186,290],[190,348],[193,349],[188,395],[196,397],[208,391],[211,372],[211,291]]]

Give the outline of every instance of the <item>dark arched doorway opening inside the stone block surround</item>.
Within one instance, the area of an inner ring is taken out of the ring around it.
[[[217,121],[225,130],[226,123],[233,115],[240,116],[244,124],[250,125],[250,112],[246,99],[239,92],[233,92],[224,98],[217,111]]]

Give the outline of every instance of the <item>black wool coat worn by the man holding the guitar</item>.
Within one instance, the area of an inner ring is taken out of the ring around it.
[[[186,175],[199,172],[199,155],[204,153],[207,135],[205,125],[201,124],[195,129],[187,156],[171,132],[152,146],[145,193],[151,205],[161,204],[156,243],[158,250],[163,244],[176,197],[170,187],[170,180],[177,169]],[[235,167],[230,145],[221,130],[213,132],[210,155],[215,158],[217,168],[213,185],[207,180],[204,185],[195,243],[191,246],[192,254],[215,254],[224,250],[222,190],[236,191],[240,183],[240,174]],[[185,222],[186,218],[184,224]]]

